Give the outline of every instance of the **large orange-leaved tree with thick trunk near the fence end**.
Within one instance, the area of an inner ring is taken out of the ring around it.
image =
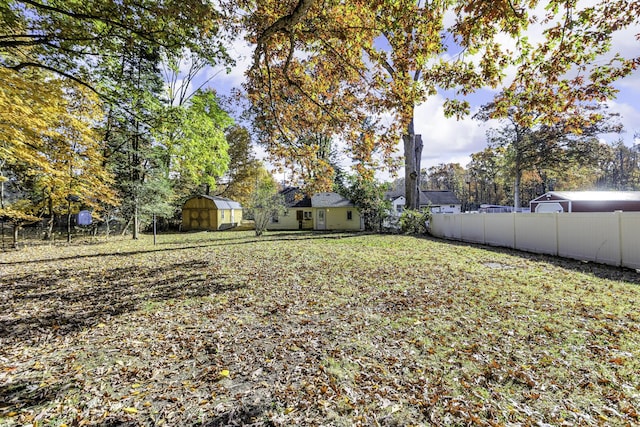
[[[526,109],[547,112],[562,103],[612,96],[611,83],[630,73],[637,58],[618,56],[595,67],[589,81],[582,75],[562,79],[569,70],[586,70],[607,52],[614,31],[637,22],[639,2],[618,1],[620,10],[609,3],[577,9],[576,1],[556,0],[247,2],[243,25],[256,44],[247,90],[276,156],[292,154],[288,144],[300,129],[321,125],[366,161],[376,150],[389,159],[402,135],[405,193],[415,207],[415,106],[444,89],[453,92],[444,103],[447,113],[464,114],[469,105],[456,97],[499,84],[509,64],[519,66],[513,87],[527,87]],[[536,6],[545,4],[543,16],[536,16]],[[449,14],[455,21],[447,26]],[[521,36],[533,22],[543,26],[538,45]],[[498,36],[511,39],[515,52],[502,47]],[[545,82],[558,83],[560,90],[544,88]],[[544,96],[536,105],[539,87]],[[510,94],[504,99],[501,105],[510,105]],[[386,129],[377,120],[385,113],[395,119]],[[373,118],[375,134],[359,138],[366,117]]]

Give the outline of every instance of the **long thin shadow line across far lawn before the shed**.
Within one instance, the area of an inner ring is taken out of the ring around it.
[[[213,232],[213,233],[230,233],[230,231],[226,232]],[[216,239],[215,236],[212,235],[211,239],[199,239],[199,242],[206,242],[202,244],[190,244],[185,246],[184,243],[180,242],[165,242],[159,243],[156,247],[152,247],[152,249],[141,249],[135,251],[126,251],[126,252],[101,252],[101,253],[92,253],[88,255],[72,255],[72,256],[64,256],[57,258],[47,258],[47,259],[35,259],[35,260],[22,260],[22,261],[8,261],[2,262],[0,261],[0,265],[19,265],[19,264],[35,264],[35,263],[47,263],[47,262],[55,262],[55,261],[68,261],[80,258],[102,258],[107,256],[115,256],[115,257],[128,257],[132,255],[140,255],[140,254],[148,254],[153,252],[175,252],[182,250],[190,250],[190,249],[200,249],[207,247],[217,247],[217,246],[236,246],[236,245],[248,245],[252,243],[269,243],[269,242],[279,242],[279,241],[295,241],[295,240],[317,240],[317,239],[341,239],[341,238],[349,238],[349,237],[357,237],[361,236],[364,233],[336,233],[336,232],[290,232],[290,233],[277,233],[277,234],[267,234],[262,237],[233,237],[224,239]]]

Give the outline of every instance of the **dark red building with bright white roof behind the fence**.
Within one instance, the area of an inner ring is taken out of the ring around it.
[[[549,191],[529,206],[538,213],[640,211],[640,191]]]

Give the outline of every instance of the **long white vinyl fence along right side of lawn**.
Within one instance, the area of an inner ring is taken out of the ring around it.
[[[445,239],[640,269],[640,212],[434,214]]]

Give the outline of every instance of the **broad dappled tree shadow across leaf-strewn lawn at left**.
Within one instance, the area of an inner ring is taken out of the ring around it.
[[[156,302],[204,297],[246,286],[241,277],[207,274],[206,262],[162,267],[25,272],[7,278],[0,340],[66,335]]]

